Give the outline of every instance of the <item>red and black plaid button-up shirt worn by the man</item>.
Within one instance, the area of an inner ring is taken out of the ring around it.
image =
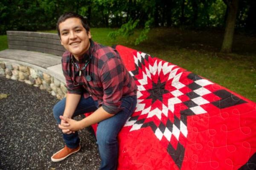
[[[92,96],[105,111],[115,114],[122,110],[120,106],[123,96],[137,94],[137,85],[115,49],[92,40],[90,42],[90,51],[88,50],[87,54],[80,57],[79,61],[69,51],[64,52],[62,56],[62,70],[66,78],[67,93],[83,94],[84,98]],[[84,67],[90,54],[92,54],[90,63],[79,76],[79,69]],[[79,69],[76,68],[74,62],[77,63]],[[86,80],[86,75],[92,78],[90,82]]]

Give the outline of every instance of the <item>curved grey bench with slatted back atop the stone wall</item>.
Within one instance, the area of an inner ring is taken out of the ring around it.
[[[58,34],[6,31],[9,49],[0,51],[0,61],[26,65],[65,82],[61,56],[65,51]]]

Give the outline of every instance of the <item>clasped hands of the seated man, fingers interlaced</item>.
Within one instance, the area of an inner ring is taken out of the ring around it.
[[[82,129],[81,122],[76,121],[74,119],[67,118],[65,116],[60,116],[61,124],[58,127],[62,130],[65,134],[75,133],[75,131]]]

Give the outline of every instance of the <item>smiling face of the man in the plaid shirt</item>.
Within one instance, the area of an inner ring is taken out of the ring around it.
[[[68,18],[59,24],[61,45],[78,60],[90,47],[90,31],[86,31],[79,18]]]

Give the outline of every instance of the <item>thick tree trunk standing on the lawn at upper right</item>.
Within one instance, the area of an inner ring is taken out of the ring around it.
[[[221,52],[230,53],[232,51],[233,36],[236,25],[236,14],[238,9],[239,0],[232,0],[227,6],[228,14],[226,21],[226,28],[224,34],[224,40],[221,47]]]

